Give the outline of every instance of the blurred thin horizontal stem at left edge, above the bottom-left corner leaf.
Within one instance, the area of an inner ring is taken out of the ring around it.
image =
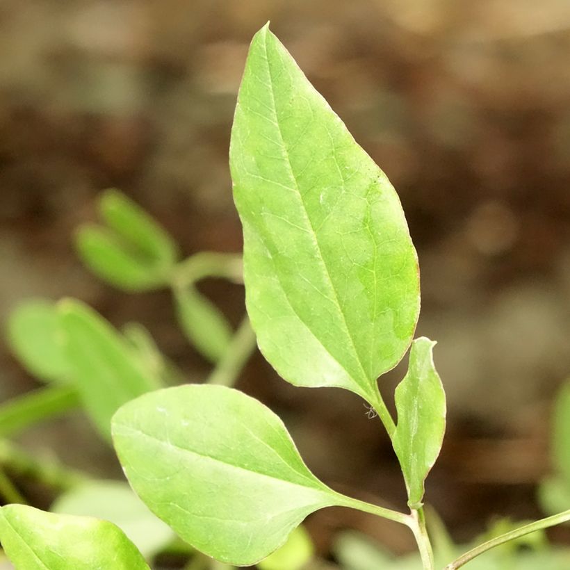
[[[7,439],[0,439],[0,466],[60,491],[90,480],[89,475],[63,466],[55,459],[37,459]]]

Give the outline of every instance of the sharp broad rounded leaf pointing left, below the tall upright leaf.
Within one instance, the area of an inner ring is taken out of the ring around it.
[[[150,510],[222,562],[259,562],[307,514],[347,504],[307,469],[270,409],[225,386],[145,394],[115,414],[113,441]]]

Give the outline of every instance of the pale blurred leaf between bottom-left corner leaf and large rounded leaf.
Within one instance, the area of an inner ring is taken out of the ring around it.
[[[154,516],[131,487],[121,481],[86,482],[60,495],[50,510],[111,521],[145,558],[152,557],[174,539],[172,529]]]

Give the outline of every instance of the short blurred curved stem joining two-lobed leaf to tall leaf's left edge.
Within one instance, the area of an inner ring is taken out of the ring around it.
[[[172,285],[184,288],[204,277],[223,277],[243,283],[241,254],[199,252],[181,261],[172,275]]]

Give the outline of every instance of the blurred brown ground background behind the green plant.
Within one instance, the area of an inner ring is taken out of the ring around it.
[[[168,292],[100,282],[72,235],[115,186],[185,254],[241,250],[229,132],[248,43],[268,19],[402,200],[421,263],[418,334],[439,341],[448,395],[430,503],[459,541],[494,515],[539,516],[551,402],[570,375],[567,0],[2,0],[1,320],[30,296],[74,296],[115,325],[139,320],[189,382],[204,379]],[[202,291],[241,320],[243,288]],[[404,371],[381,380],[390,405]],[[3,344],[0,398],[33,386]],[[389,441],[356,396],[295,389],[259,354],[238,386],[282,416],[327,483],[403,508]],[[19,440],[120,473],[79,415]],[[348,527],[414,548],[405,528],[357,512],[308,522],[325,554]]]

